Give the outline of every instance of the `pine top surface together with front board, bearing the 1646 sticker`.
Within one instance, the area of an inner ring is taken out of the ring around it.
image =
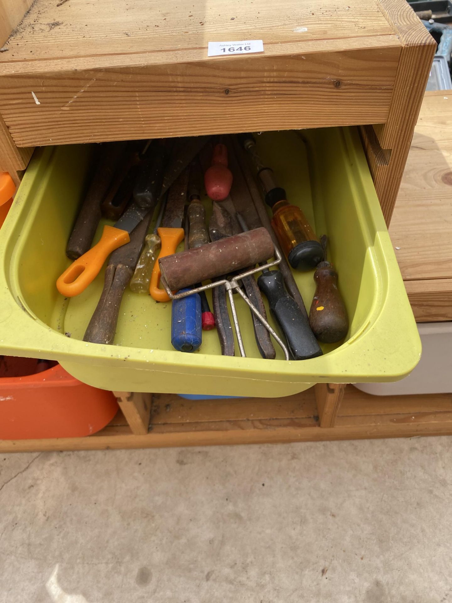
[[[207,57],[244,37],[265,52]],[[18,147],[385,122],[401,51],[373,0],[36,0],[6,47]]]

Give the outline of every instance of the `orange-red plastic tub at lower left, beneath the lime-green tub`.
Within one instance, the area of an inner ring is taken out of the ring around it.
[[[118,412],[111,391],[83,384],[59,364],[29,374],[36,368],[36,359],[0,357],[1,440],[90,435]]]

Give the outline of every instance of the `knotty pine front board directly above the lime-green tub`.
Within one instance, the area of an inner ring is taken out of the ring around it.
[[[399,52],[0,73],[0,112],[18,147],[378,123]]]

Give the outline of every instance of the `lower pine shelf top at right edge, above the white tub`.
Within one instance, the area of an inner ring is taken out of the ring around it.
[[[452,90],[426,92],[389,234],[418,322],[452,320]]]

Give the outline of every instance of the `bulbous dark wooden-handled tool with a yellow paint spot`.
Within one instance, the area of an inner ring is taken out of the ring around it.
[[[327,237],[322,236],[322,244],[327,247]],[[337,343],[348,332],[348,315],[344,300],[337,288],[337,272],[333,264],[320,262],[314,273],[315,294],[309,311],[309,325],[319,341]]]

